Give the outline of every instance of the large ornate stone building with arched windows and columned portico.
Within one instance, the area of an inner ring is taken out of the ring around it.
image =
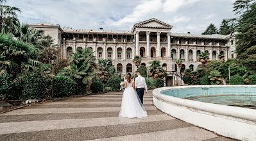
[[[234,35],[172,33],[173,26],[157,19],[137,23],[132,31],[61,28],[49,23],[30,26],[53,37],[62,57],[70,58],[76,49],[90,47],[98,59],[112,59],[123,74],[137,69],[132,61],[134,56],[141,56],[142,65],[146,67],[152,60],[160,60],[167,70],[167,86],[175,84],[176,71],[180,72],[175,66],[176,59],[182,60],[183,71],[195,70],[201,65],[198,59],[201,52],[208,52],[210,60],[218,60],[221,53],[225,54],[225,60],[236,57]]]

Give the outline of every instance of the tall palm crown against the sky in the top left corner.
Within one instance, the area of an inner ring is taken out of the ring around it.
[[[1,33],[10,33],[15,26],[19,26],[17,12],[19,8],[4,5],[6,0],[0,0],[0,30]]]

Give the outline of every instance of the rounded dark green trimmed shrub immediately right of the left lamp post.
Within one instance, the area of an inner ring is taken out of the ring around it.
[[[53,86],[54,97],[67,97],[76,91],[76,82],[69,76],[56,76]]]

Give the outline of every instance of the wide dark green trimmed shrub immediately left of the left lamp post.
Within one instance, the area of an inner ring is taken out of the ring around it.
[[[47,86],[51,84],[51,78],[48,74],[32,72],[27,74],[23,83],[21,99],[42,99],[49,97],[50,90]]]

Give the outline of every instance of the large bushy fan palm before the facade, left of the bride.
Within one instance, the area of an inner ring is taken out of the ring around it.
[[[85,47],[83,50],[78,48],[76,53],[73,53],[70,65],[64,68],[64,74],[76,79],[80,94],[85,94],[87,84],[94,78],[96,70],[96,56],[89,47]]]

